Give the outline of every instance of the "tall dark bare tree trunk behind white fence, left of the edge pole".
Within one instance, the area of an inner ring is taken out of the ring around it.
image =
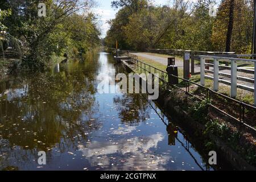
[[[234,23],[234,0],[230,0],[229,24],[228,24],[228,32],[226,33],[226,50],[225,50],[226,52],[230,52],[233,23]],[[227,62],[226,65],[229,65],[229,63]]]

